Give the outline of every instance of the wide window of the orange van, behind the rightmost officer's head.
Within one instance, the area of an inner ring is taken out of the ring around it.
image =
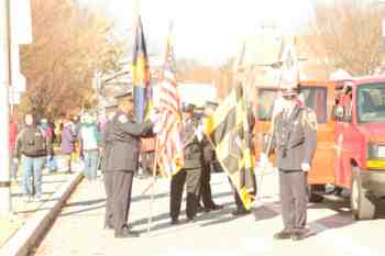
[[[257,119],[261,121],[270,121],[273,114],[274,100],[277,90],[275,89],[258,89],[257,99]],[[312,109],[317,113],[319,123],[326,123],[328,116],[327,96],[328,91],[324,87],[306,87],[301,88],[301,93],[305,99],[305,105]]]

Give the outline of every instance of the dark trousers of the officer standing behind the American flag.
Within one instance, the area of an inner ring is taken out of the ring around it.
[[[182,169],[173,176],[170,183],[170,218],[178,220],[184,186],[187,188],[186,215],[194,219],[198,210],[201,169]]]

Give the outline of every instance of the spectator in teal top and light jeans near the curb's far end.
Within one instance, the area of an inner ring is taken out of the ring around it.
[[[80,148],[85,156],[85,176],[89,181],[96,180],[99,166],[100,133],[89,114],[84,116],[85,123],[79,131]]]

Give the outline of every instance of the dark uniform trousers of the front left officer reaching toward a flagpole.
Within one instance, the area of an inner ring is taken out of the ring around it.
[[[116,170],[112,176],[113,227],[119,233],[128,226],[134,171]]]

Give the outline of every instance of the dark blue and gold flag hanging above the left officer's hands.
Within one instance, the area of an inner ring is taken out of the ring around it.
[[[132,58],[132,84],[136,122],[142,123],[150,111],[152,91],[150,67],[141,16],[138,19],[136,36]]]

